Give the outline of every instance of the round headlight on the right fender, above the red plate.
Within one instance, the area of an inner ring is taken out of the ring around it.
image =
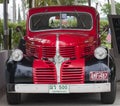
[[[94,56],[99,59],[105,59],[107,57],[107,50],[104,47],[98,47],[94,51]]]

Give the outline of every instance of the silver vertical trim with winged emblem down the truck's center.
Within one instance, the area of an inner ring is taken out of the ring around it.
[[[54,58],[49,58],[49,61],[53,62],[56,66],[57,71],[57,82],[60,82],[60,69],[64,61],[69,60],[69,58],[64,58],[60,55],[60,46],[59,46],[59,34],[56,35],[56,54]]]

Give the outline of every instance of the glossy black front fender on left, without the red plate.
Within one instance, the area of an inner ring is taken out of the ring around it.
[[[19,62],[9,59],[6,64],[7,83],[33,83],[32,64],[33,60],[25,57]]]

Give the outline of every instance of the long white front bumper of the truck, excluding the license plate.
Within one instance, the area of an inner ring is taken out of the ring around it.
[[[9,93],[53,93],[49,91],[49,86],[53,84],[8,84],[7,92]],[[57,85],[57,84],[54,84]],[[97,93],[110,92],[111,83],[96,84],[58,84],[68,85],[69,91],[65,93]],[[59,93],[59,92],[54,92]],[[63,92],[64,93],[64,92]]]

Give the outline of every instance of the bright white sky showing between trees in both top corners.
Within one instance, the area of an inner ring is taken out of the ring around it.
[[[18,5],[20,6],[20,7],[22,7],[21,6],[21,0],[9,0],[9,4],[8,4],[8,16],[9,16],[9,19],[10,20],[12,20],[13,19],[13,1],[15,1],[16,2],[16,11],[18,11]],[[94,3],[92,3],[92,6],[93,7],[96,7],[96,3],[98,3],[98,12],[100,13],[100,16],[101,17],[104,17],[104,14],[102,14],[102,12],[101,12],[101,6],[104,4],[104,3],[107,3],[107,0],[96,0],[97,2],[94,2]],[[110,0],[111,1],[111,0]],[[120,0],[115,0],[115,1],[117,1],[117,2],[120,2]],[[20,10],[21,10],[21,18],[22,18],[22,16],[23,16],[23,14],[22,14],[22,8],[20,8]],[[17,17],[17,13],[16,13],[16,17]],[[1,19],[3,19],[3,4],[0,4],[0,18]]]

